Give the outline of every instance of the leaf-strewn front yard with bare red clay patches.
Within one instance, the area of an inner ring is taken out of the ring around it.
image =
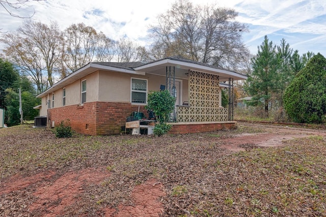
[[[0,129],[0,216],[326,216],[326,132]]]

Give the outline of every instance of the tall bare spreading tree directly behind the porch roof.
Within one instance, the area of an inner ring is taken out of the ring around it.
[[[235,59],[249,54],[241,38],[248,27],[236,22],[236,17],[232,9],[177,1],[171,10],[158,16],[158,25],[151,26],[155,40],[152,56],[181,55],[214,66],[235,67]]]

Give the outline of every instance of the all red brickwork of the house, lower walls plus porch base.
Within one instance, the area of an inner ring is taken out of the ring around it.
[[[121,133],[126,118],[131,112],[138,111],[138,105],[131,103],[92,102],[82,106],[72,105],[48,109],[49,125],[55,126],[69,119],[72,130],[87,135],[116,135]],[[144,106],[140,112],[148,113]],[[178,122],[171,123],[169,134],[187,134],[210,132],[222,129],[234,129],[235,121],[226,122]]]

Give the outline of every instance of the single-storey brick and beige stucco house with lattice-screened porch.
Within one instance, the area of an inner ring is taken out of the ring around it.
[[[76,132],[113,135],[132,111],[147,114],[149,91],[165,87],[176,97],[170,133],[204,132],[234,127],[233,111],[220,106],[220,82],[232,89],[242,79],[247,76],[180,56],[147,64],[89,63],[37,97],[50,127],[69,119]]]

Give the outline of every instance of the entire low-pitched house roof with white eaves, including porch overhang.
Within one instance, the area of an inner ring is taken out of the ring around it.
[[[59,82],[53,84],[50,88],[42,92],[37,96],[37,98],[45,97],[60,88],[67,86],[68,84],[82,79],[83,77],[96,72],[98,70],[103,70],[107,72],[120,72],[128,73],[133,75],[145,75],[155,74],[166,76],[166,68],[175,68],[175,77],[187,79],[189,70],[205,72],[208,74],[216,74],[220,76],[220,82],[229,81],[229,78],[233,80],[243,80],[247,79],[246,75],[236,73],[233,71],[221,69],[214,67],[205,63],[200,63],[197,61],[182,58],[180,56],[171,56],[164,59],[156,60],[148,64],[135,62],[135,63],[89,63],[86,66],[78,69],[77,71],[71,73],[67,77],[63,78]]]

